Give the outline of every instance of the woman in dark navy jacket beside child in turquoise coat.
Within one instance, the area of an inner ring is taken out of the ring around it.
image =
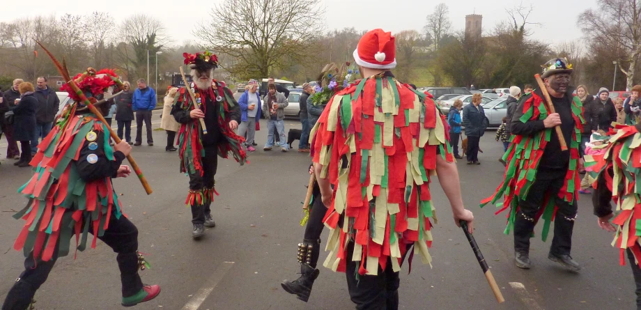
[[[481,94],[472,95],[472,104],[463,108],[463,125],[465,125],[465,136],[468,137],[468,164],[481,164],[479,162],[479,141],[485,133],[486,117],[481,107]]]

